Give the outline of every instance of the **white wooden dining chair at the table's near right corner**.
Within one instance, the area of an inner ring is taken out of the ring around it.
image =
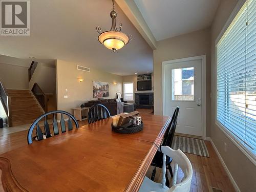
[[[187,156],[181,150],[173,150],[169,146],[161,146],[161,151],[163,153],[163,168],[162,168],[162,183],[156,183],[149,178],[145,177],[139,192],[149,192],[149,191],[164,191],[164,192],[189,192],[190,185],[193,175],[192,165],[187,158]],[[165,173],[166,173],[166,156],[173,159],[175,162],[174,166],[174,177],[172,182],[172,187],[165,186]],[[178,169],[181,168],[184,177],[180,183],[177,183]]]

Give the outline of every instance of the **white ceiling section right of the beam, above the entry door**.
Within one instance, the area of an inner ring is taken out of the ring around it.
[[[220,0],[134,0],[156,40],[207,28]]]

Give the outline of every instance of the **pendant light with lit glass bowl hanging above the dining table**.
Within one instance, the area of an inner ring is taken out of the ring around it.
[[[121,49],[123,46],[129,43],[132,40],[132,35],[126,35],[121,32],[122,24],[119,24],[119,29],[116,28],[116,17],[117,13],[115,12],[114,0],[112,0],[112,11],[110,12],[110,17],[112,18],[112,26],[109,31],[101,33],[101,27],[97,26],[96,30],[99,33],[98,40],[106,48],[113,50],[114,52],[118,49]]]

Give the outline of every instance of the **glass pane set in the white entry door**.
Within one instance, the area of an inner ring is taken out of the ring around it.
[[[172,70],[172,100],[194,101],[194,67]]]

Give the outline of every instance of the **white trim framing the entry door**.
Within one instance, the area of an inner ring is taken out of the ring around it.
[[[164,114],[165,108],[165,90],[164,88],[164,69],[165,66],[168,64],[176,63],[176,62],[183,62],[183,61],[191,61],[191,60],[202,60],[202,129],[203,129],[203,139],[206,139],[206,55],[200,55],[195,57],[187,57],[181,59],[174,59],[162,62],[162,114]]]

